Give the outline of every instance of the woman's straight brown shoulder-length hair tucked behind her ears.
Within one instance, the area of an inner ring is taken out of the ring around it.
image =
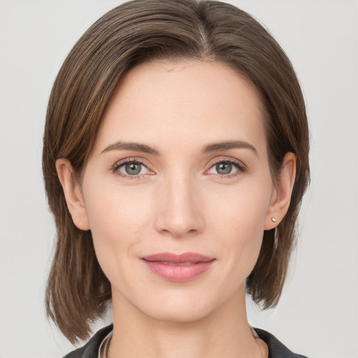
[[[294,69],[280,45],[243,10],[219,1],[134,0],[110,10],[74,45],[52,88],[43,137],[43,174],[57,226],[46,308],[71,342],[87,338],[110,300],[110,283],[96,260],[90,231],[71,220],[55,162],[82,173],[101,116],[124,73],[152,59],[221,62],[248,78],[266,112],[268,155],[278,178],[287,152],[296,155],[292,200],[276,229],[265,231],[247,291],[275,306],[294,245],[296,216],[309,179],[308,124]]]

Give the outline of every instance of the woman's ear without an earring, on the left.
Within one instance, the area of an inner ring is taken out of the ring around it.
[[[57,159],[56,170],[62,189],[64,189],[64,196],[73,223],[78,229],[90,230],[90,222],[87,218],[83,194],[80,190],[79,183],[73,179],[73,169],[69,159]]]

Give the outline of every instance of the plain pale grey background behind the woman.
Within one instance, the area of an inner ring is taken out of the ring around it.
[[[43,124],[66,54],[121,2],[0,2],[0,358],[73,349],[44,313],[55,228],[41,173]],[[275,310],[248,299],[250,322],[310,358],[357,358],[358,2],[228,2],[263,22],[289,55],[312,137],[312,182],[285,290]]]

